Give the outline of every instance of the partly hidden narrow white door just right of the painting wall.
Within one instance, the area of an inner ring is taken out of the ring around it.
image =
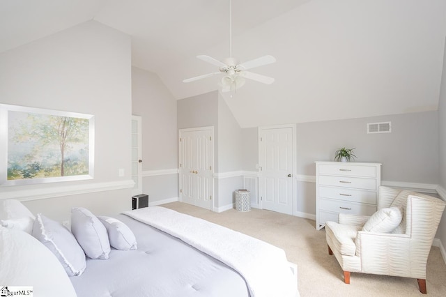
[[[132,195],[142,194],[141,116],[132,116]]]

